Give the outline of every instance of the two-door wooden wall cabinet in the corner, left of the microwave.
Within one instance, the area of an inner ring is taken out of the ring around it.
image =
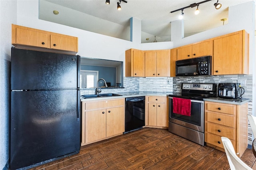
[[[170,77],[170,49],[145,51],[145,77]]]

